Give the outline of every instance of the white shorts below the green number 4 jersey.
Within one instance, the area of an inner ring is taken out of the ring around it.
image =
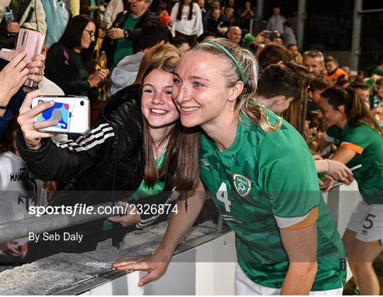
[[[309,295],[342,295],[343,288],[335,288],[327,291],[311,291]],[[248,278],[237,263],[235,269],[235,295],[280,295],[281,288],[261,286]]]

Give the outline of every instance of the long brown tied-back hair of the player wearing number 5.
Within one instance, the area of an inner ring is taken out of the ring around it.
[[[328,104],[334,109],[338,109],[341,105],[345,106],[348,123],[353,127],[366,123],[382,135],[382,128],[379,127],[379,124],[370,114],[367,106],[365,106],[365,103],[357,96],[353,88],[343,89],[338,86],[333,86],[323,91],[321,96],[328,99]]]

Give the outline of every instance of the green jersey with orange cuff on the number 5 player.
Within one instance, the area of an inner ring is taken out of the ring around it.
[[[328,130],[326,134],[340,142],[340,147],[356,152],[348,167],[362,164],[353,172],[363,200],[367,204],[383,204],[383,136],[370,125]],[[340,133],[339,133],[340,131]]]

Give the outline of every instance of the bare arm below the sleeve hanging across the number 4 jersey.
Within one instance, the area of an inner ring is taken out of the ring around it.
[[[281,295],[309,295],[318,269],[316,223],[306,228],[281,228],[280,232],[289,257]]]

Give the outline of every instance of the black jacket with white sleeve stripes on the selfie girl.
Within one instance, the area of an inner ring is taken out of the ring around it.
[[[92,125],[91,131],[84,137],[57,145],[48,139],[42,142],[39,150],[29,150],[21,130],[18,130],[16,142],[30,172],[45,181],[65,183],[62,191],[58,191],[50,201],[51,206],[73,206],[76,203],[89,206],[121,201],[126,200],[143,181],[142,119],[139,85],[126,86],[109,97],[99,121]],[[167,176],[172,176],[175,167],[176,164],[170,164]],[[165,190],[160,194],[129,203],[167,203],[172,194],[170,190],[167,181]],[[141,215],[141,221],[129,230],[143,228],[162,218],[160,215]],[[101,225],[102,220],[60,230],[82,233],[87,239],[87,242],[83,240],[84,245],[54,241],[48,242],[48,248],[39,247],[36,250],[48,249],[51,254],[94,250],[100,240]],[[119,223],[113,224],[113,228],[117,230],[113,235],[113,243],[117,244],[127,229],[121,228]]]

